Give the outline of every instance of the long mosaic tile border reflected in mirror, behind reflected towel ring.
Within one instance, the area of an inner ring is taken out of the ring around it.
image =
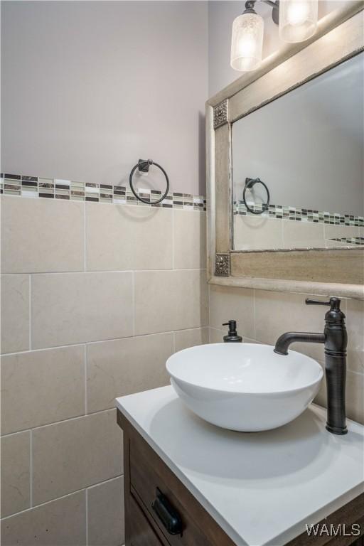
[[[252,210],[256,210],[257,212],[260,212],[263,207],[263,205],[260,204],[248,204]],[[255,216],[247,210],[243,201],[235,201],[233,210],[234,215]],[[269,210],[264,210],[260,216],[263,218],[279,218],[283,220],[296,220],[299,222],[364,227],[364,216],[323,212],[321,210],[311,210],[309,208],[290,207],[289,205],[269,205]]]

